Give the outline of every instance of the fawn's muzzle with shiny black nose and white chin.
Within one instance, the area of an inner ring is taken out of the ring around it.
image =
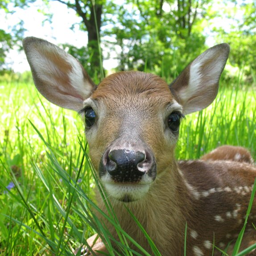
[[[107,193],[123,202],[143,197],[156,175],[153,152],[142,141],[110,145],[99,165],[99,177]]]

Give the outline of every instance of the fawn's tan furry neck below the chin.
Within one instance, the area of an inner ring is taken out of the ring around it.
[[[183,248],[186,212],[190,208],[188,207],[190,205],[189,191],[184,190],[184,187],[178,164],[174,161],[171,168],[169,166],[157,175],[145,197],[128,203],[114,200],[111,204],[121,227],[145,249],[148,248],[145,235],[142,234],[127,208],[145,228],[160,252],[161,248],[166,250],[168,244],[173,246],[169,246],[170,252],[177,252]],[[184,202],[185,200],[188,202]],[[102,200],[100,206],[105,209]],[[115,229],[110,224],[107,226],[114,234]],[[150,251],[150,248],[148,250]]]

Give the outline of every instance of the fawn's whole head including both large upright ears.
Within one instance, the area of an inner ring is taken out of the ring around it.
[[[34,82],[42,95],[85,118],[94,168],[107,193],[136,201],[162,172],[172,171],[182,116],[207,107],[218,91],[229,46],[216,45],[168,86],[143,72],[112,74],[99,84],[79,62],[47,41],[23,41]]]

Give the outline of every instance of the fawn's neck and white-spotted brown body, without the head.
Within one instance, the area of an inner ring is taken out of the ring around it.
[[[211,255],[213,241],[224,250],[244,225],[256,168],[233,161],[180,161],[177,167],[156,179],[145,198],[125,206],[163,256],[183,255],[186,222],[187,255]],[[101,207],[104,209],[103,203]],[[147,240],[127,214],[124,203],[115,201],[113,207],[124,230],[150,252]],[[253,229],[251,222],[256,218],[255,213],[253,206],[246,234]],[[115,233],[111,225],[109,229]],[[255,232],[244,239],[244,248],[250,243],[256,243]],[[221,253],[215,249],[215,255]]]

